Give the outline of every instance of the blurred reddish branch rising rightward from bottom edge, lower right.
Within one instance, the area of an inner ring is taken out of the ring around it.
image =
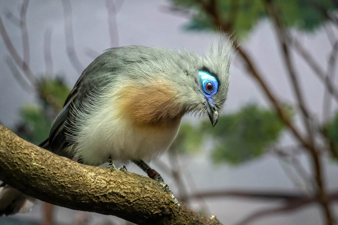
[[[338,192],[334,192],[328,195],[328,197],[332,201],[337,201],[338,200]],[[305,197],[302,199],[298,199],[295,201],[290,201],[286,202],[282,206],[278,206],[275,208],[266,208],[266,209],[261,209],[259,211],[256,211],[255,213],[249,215],[239,223],[236,223],[236,225],[245,225],[253,222],[254,220],[257,220],[261,217],[266,217],[266,216],[271,216],[273,214],[279,214],[279,213],[287,213],[289,211],[294,211],[296,209],[299,209],[301,207],[309,206],[311,203],[314,203],[318,201],[317,198],[315,197]]]

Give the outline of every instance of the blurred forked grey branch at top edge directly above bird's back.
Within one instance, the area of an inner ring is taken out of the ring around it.
[[[123,4],[123,0],[106,0],[108,30],[110,37],[110,47],[118,47],[119,34],[117,30],[116,14],[119,12]]]

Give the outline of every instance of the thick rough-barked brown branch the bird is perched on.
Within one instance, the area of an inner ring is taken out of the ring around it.
[[[62,207],[114,215],[136,224],[221,224],[181,203],[139,174],[76,163],[19,138],[0,125],[0,180]]]

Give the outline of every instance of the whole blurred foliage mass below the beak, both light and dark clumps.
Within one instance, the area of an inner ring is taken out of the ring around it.
[[[292,110],[287,106],[284,108],[291,117]],[[221,116],[215,127],[209,120],[200,126],[182,124],[170,149],[195,153],[203,147],[211,147],[215,163],[239,164],[264,154],[277,141],[283,127],[283,122],[273,111],[248,105]]]

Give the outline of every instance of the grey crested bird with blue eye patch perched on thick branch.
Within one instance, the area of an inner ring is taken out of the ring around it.
[[[185,114],[206,115],[216,125],[231,57],[225,38],[206,57],[158,47],[108,49],[82,72],[41,147],[86,165],[108,161],[111,169],[113,160],[131,161],[160,182],[179,208],[145,161],[170,147]],[[1,193],[0,215],[18,211],[14,201],[5,205]]]

